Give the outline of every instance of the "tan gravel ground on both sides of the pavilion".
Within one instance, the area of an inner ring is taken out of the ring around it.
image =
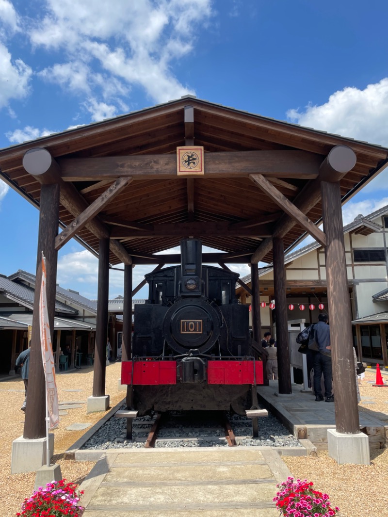
[[[121,363],[107,368],[107,389],[111,407],[123,400],[124,392],[117,390]],[[86,399],[92,394],[93,370],[84,368],[57,375],[59,402],[72,402],[61,416],[59,428],[54,431],[54,461],[61,465],[62,476],[68,481],[81,483],[90,472],[93,462],[62,460],[62,455],[85,431],[67,431],[74,422],[96,423],[105,413],[86,415]],[[388,379],[384,376],[384,379]],[[376,388],[368,384],[375,374],[367,370],[360,386],[361,411],[375,414],[388,425],[388,388]],[[71,391],[68,391],[71,390]],[[77,390],[77,391],[76,391]],[[80,391],[79,391],[80,390]],[[12,440],[23,434],[24,414],[20,406],[24,400],[24,386],[20,377],[0,382],[2,418],[0,420],[0,505],[2,517],[14,517],[20,511],[24,497],[32,494],[35,473],[10,474]],[[80,404],[74,404],[75,402]],[[120,421],[120,419],[118,419]],[[337,465],[327,453],[318,458],[283,457],[295,478],[309,479],[318,490],[327,492],[333,504],[340,507],[341,517],[388,517],[386,490],[388,486],[388,449],[371,453],[371,465]]]

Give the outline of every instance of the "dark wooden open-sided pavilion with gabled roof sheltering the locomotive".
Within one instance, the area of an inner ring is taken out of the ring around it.
[[[183,149],[182,149],[183,148]],[[132,267],[184,237],[248,263],[261,340],[258,262],[273,262],[279,393],[291,393],[283,254],[309,233],[325,247],[336,428],[359,433],[341,204],[388,163],[388,149],[186,96],[0,151],[1,177],[40,209],[51,324],[57,251],[78,238],[98,255],[94,397],[105,396],[109,265],[124,263],[123,358],[130,356]],[[323,218],[324,232],[317,223]],[[58,234],[59,225],[64,230]],[[39,296],[35,297],[36,302]],[[24,437],[44,436],[44,379],[34,307]]]

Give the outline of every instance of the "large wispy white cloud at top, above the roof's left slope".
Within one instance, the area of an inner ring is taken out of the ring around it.
[[[156,102],[193,93],[174,77],[171,65],[192,51],[198,27],[212,16],[211,0],[115,0],[114,8],[105,0],[47,0],[46,13],[29,31],[31,41],[65,51],[67,62],[44,69],[45,79],[84,92],[100,85],[111,111],[112,103],[125,107],[126,99],[119,98],[135,84]]]

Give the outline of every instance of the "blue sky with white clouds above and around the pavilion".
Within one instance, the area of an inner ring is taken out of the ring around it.
[[[387,18],[382,0],[0,0],[0,147],[188,93],[388,146]],[[344,222],[385,204],[383,172]],[[0,180],[3,275],[35,272],[38,217]],[[95,298],[97,260],[70,241],[57,281]]]

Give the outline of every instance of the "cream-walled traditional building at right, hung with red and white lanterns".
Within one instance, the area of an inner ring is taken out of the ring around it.
[[[388,205],[344,226],[344,241],[354,346],[363,361],[388,367]],[[306,326],[318,321],[318,314],[327,311],[324,248],[312,242],[290,252],[285,267],[288,321],[305,320]],[[260,268],[259,279],[262,329],[274,333],[273,266]],[[250,275],[242,281],[250,286]],[[250,303],[243,286],[236,285],[236,293],[242,303]]]

